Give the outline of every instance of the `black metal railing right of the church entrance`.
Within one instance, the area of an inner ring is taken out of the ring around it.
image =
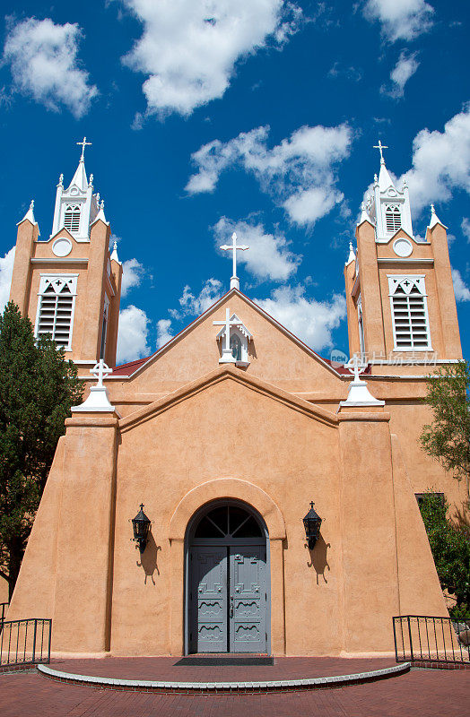
[[[393,634],[397,662],[470,663],[470,647],[459,641],[450,618],[400,615]]]

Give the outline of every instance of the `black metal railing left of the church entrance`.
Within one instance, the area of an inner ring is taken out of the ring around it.
[[[52,620],[4,620],[0,623],[0,669],[50,662]]]

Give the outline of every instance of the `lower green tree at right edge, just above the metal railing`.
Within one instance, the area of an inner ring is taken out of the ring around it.
[[[440,586],[457,601],[452,617],[470,618],[470,535],[448,520],[448,502],[442,494],[424,495],[420,510]]]

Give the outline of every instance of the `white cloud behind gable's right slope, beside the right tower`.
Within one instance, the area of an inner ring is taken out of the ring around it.
[[[300,285],[279,287],[270,298],[255,301],[314,350],[333,346],[332,331],[346,315],[342,294],[334,294],[329,302],[316,301],[308,298],[305,287]]]

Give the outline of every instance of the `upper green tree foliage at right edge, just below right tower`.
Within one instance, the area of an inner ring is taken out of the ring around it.
[[[440,368],[427,381],[425,402],[433,421],[423,426],[421,444],[457,480],[466,481],[470,503],[470,364],[459,361]]]

